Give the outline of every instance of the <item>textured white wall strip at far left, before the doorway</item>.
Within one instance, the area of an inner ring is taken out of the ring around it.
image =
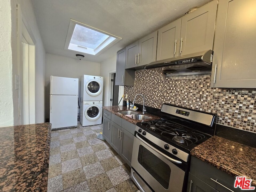
[[[11,3],[0,0],[0,127],[14,124],[12,102]]]

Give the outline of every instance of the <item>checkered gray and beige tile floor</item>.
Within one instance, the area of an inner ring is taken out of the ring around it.
[[[97,138],[102,125],[54,130],[51,134],[48,192],[139,192],[130,167]]]

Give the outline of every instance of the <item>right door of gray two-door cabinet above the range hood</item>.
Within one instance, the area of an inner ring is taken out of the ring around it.
[[[182,17],[180,55],[212,50],[217,5],[214,0]]]

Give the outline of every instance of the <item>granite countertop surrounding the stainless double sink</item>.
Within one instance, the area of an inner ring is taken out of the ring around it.
[[[132,123],[132,124],[136,124],[138,122],[142,122],[142,120],[135,120],[135,119],[132,119],[124,114],[121,114],[121,113],[118,113],[118,111],[126,111],[126,110],[130,110],[128,108],[126,108],[126,106],[103,106],[102,107],[103,109],[125,119],[126,121]],[[139,111],[137,110],[136,111],[138,114],[142,114],[142,111]],[[148,117],[151,117],[151,119],[146,119],[146,120],[143,120],[143,121],[150,121],[150,120],[155,120],[155,119],[159,119],[160,117],[158,116],[155,116],[155,115],[152,115],[152,114],[149,114],[149,113],[145,113],[144,114],[145,116],[148,116]]]

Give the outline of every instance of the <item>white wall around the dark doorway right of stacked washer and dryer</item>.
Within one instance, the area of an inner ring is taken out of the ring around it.
[[[103,106],[110,105],[110,74],[116,72],[116,54],[100,65],[100,76],[104,77]],[[124,94],[124,86],[119,86],[118,101]],[[120,102],[122,105],[122,101]]]

